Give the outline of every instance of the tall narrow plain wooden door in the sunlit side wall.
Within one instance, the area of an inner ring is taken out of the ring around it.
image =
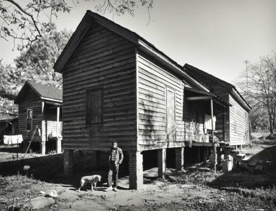
[[[166,120],[167,142],[175,142],[175,91],[168,87],[166,88]]]

